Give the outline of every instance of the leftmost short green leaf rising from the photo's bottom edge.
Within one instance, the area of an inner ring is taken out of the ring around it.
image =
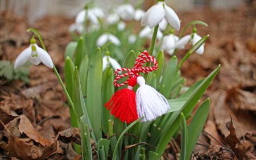
[[[90,144],[90,131],[88,127],[88,119],[86,116],[80,117],[80,130],[81,130],[81,145],[82,145],[82,159],[92,158],[92,146]]]

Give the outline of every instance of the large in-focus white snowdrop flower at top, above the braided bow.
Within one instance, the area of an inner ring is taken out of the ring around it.
[[[180,30],[180,19],[170,7],[166,5],[165,2],[158,2],[156,5],[152,6],[141,20],[142,26],[150,26],[153,28],[157,26],[164,18],[174,27],[176,30]]]

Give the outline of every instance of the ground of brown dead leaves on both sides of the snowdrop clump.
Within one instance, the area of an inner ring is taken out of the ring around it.
[[[211,104],[194,150],[197,159],[255,159],[255,8],[243,5],[234,10],[198,9],[180,14],[183,24],[195,18],[206,22],[209,27],[197,30],[201,36],[210,35],[203,56],[193,54],[181,68],[185,85],[206,77],[221,64],[220,73],[203,97],[209,97]],[[48,52],[63,76],[64,50],[72,40],[68,27],[73,22],[63,16],[47,16],[28,25],[26,19],[2,13],[0,59],[14,61],[29,45],[31,35],[27,28],[34,27],[42,33]],[[178,58],[182,56],[184,53],[177,53]],[[47,159],[80,159],[69,143],[79,142],[79,130],[70,128],[67,99],[56,75],[44,65],[32,65],[29,78],[29,84],[20,80],[7,83],[0,78],[0,159],[26,157],[31,148],[39,159],[48,155],[51,156]],[[26,138],[17,138],[24,134]],[[30,143],[24,145],[24,140]],[[167,146],[168,159],[179,157],[178,141],[172,140]],[[53,148],[57,148],[55,153],[51,153]]]

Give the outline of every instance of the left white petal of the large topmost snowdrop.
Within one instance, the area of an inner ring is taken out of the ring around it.
[[[157,26],[164,18],[162,3],[152,6],[147,12],[147,24],[150,28]]]

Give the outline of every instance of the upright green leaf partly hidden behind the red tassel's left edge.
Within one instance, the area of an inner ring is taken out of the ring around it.
[[[102,130],[105,134],[109,131],[108,120],[110,119],[110,112],[104,104],[107,103],[114,94],[113,79],[113,69],[109,67],[106,68],[102,78]]]

